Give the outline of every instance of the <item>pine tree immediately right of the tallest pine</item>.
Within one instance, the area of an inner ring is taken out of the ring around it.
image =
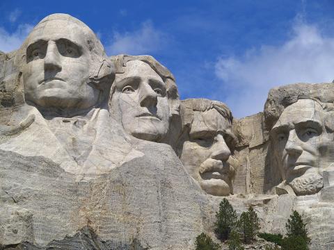
[[[255,235],[260,230],[259,218],[253,207],[249,207],[247,212],[241,213],[238,228],[241,234],[244,236],[244,243],[250,243],[254,240]]]

